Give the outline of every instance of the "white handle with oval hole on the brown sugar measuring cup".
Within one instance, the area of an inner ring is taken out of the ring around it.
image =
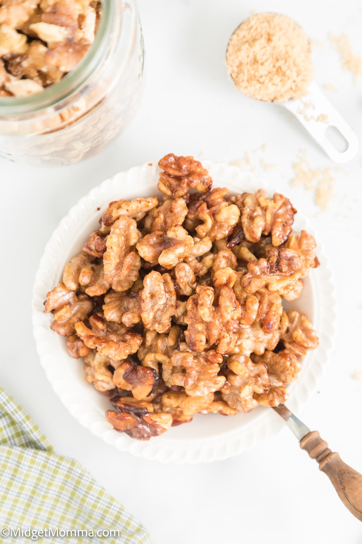
[[[309,103],[308,106],[306,102]],[[342,164],[353,159],[358,151],[357,135],[315,82],[309,85],[308,94],[303,98],[280,102],[280,105],[296,116],[334,162]],[[319,116],[322,116],[325,121],[317,121]],[[347,145],[345,151],[339,151],[327,137],[328,127],[335,127],[344,137]]]

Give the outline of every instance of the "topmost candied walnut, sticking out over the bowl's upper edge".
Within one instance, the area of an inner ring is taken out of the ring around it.
[[[190,188],[201,193],[211,189],[212,179],[208,171],[193,157],[177,157],[169,153],[158,162],[158,166],[163,172],[157,187],[168,196],[185,195]]]

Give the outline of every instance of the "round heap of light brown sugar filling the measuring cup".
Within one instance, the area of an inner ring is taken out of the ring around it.
[[[306,95],[313,79],[312,47],[293,19],[276,13],[247,18],[232,34],[226,64],[237,88],[266,102]]]

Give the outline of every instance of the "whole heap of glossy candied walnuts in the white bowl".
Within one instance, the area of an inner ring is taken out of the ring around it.
[[[166,155],[155,196],[111,202],[47,294],[50,327],[139,440],[195,413],[234,415],[288,398],[318,338],[283,311],[319,261],[281,194],[228,196],[193,157]],[[189,193],[189,189],[194,189]]]

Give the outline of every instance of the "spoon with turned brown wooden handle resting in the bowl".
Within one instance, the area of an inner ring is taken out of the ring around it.
[[[298,438],[300,447],[315,459],[319,469],[327,474],[342,503],[351,514],[362,521],[362,474],[344,463],[338,453],[331,452],[327,442],[322,440],[318,431],[310,431],[294,413],[280,404],[273,406],[289,429]]]

